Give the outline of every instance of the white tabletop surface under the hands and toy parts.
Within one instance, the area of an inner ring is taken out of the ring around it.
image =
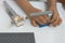
[[[35,4],[35,3],[32,3]],[[39,4],[37,3],[39,6]],[[37,6],[37,8],[38,8]],[[57,4],[57,10],[62,19],[65,22],[65,11],[61,4]],[[15,27],[10,25],[10,17],[4,11],[2,0],[0,0],[0,32],[35,32],[36,43],[65,43],[65,23],[61,26],[53,27],[32,27],[30,22],[27,19],[25,25],[22,27]]]

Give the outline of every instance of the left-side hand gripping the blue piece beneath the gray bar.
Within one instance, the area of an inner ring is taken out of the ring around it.
[[[36,11],[34,11],[34,12],[41,12],[38,9],[35,9],[35,10]],[[31,25],[35,26],[35,27],[39,26],[37,23],[39,23],[40,25],[42,25],[42,24],[46,24],[46,23],[50,22],[50,18],[47,15],[40,15],[40,16],[34,16],[34,17],[29,16],[29,19],[30,19]]]

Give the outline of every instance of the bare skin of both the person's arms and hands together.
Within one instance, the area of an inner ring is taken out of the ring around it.
[[[41,10],[39,9],[35,9],[29,2],[28,0],[16,0],[17,4],[26,12],[26,14],[28,15],[30,23],[32,26],[37,27],[38,25],[36,24],[36,22],[38,22],[39,24],[46,24],[46,23],[51,23],[50,26],[58,26],[62,23],[62,19],[58,15],[57,9],[56,9],[56,0],[48,0],[48,4],[49,4],[49,10],[53,12],[53,16],[52,19],[50,19],[47,15],[40,15],[40,16],[34,16],[30,17],[29,15],[31,13],[37,13],[37,12],[41,12]]]

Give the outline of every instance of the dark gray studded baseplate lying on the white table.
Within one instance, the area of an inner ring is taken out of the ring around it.
[[[0,43],[35,43],[34,33],[0,33]]]

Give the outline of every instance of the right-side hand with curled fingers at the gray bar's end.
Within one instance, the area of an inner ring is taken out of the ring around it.
[[[52,19],[50,22],[51,23],[50,26],[54,26],[55,27],[55,26],[61,25],[62,19],[61,19],[60,15],[58,15],[57,9],[54,8],[54,6],[51,6],[50,11],[53,12]]]

